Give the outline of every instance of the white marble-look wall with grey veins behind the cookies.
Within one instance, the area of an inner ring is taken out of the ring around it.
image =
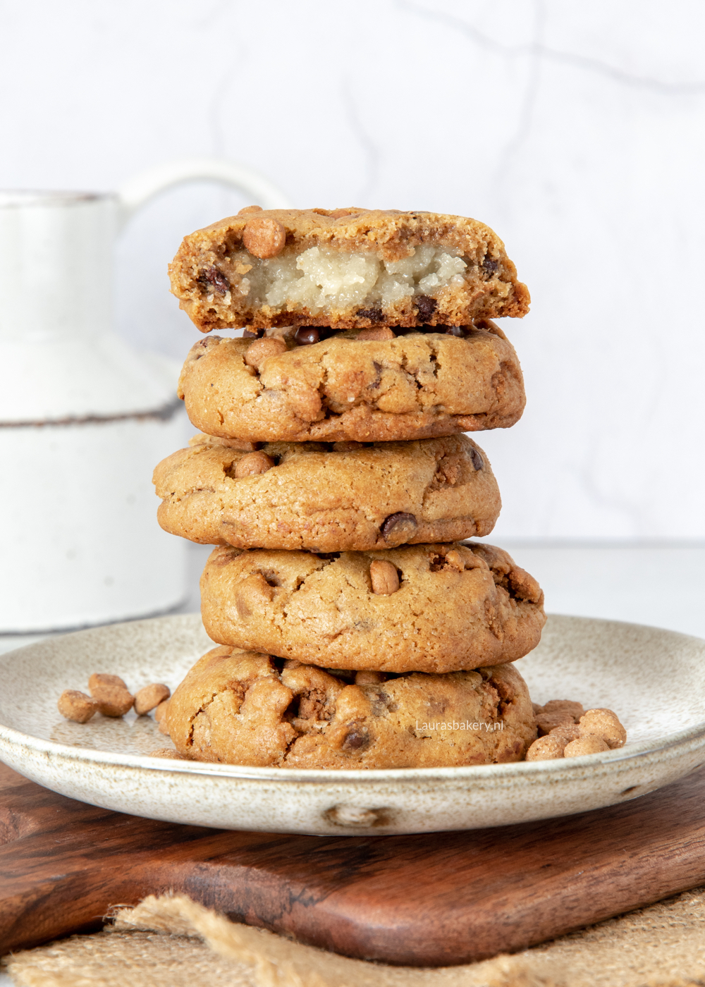
[[[528,407],[481,444],[498,538],[705,539],[705,6],[699,0],[6,0],[0,186],[111,189],[174,157],[300,206],[472,215],[533,296]],[[118,328],[183,357],[165,194],[118,248]]]

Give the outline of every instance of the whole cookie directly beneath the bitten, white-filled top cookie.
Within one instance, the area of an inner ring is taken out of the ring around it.
[[[389,442],[509,428],[525,404],[519,361],[497,326],[482,325],[465,338],[288,339],[262,358],[267,340],[208,337],[187,357],[179,396],[196,428],[252,442]]]

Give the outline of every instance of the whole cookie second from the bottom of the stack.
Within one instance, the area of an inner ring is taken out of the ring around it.
[[[219,644],[386,672],[513,661],[538,644],[546,619],[536,580],[482,543],[331,555],[217,548],[200,601]]]

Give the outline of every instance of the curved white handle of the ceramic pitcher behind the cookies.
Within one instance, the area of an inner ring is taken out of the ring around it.
[[[180,158],[135,175],[118,189],[119,227],[154,195],[185,182],[218,182],[250,195],[265,209],[289,209],[291,203],[269,179],[223,158]]]

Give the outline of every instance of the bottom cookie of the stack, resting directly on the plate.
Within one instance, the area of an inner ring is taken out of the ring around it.
[[[355,675],[232,647],[196,662],[166,720],[188,758],[279,768],[500,764],[536,736],[513,665]]]

